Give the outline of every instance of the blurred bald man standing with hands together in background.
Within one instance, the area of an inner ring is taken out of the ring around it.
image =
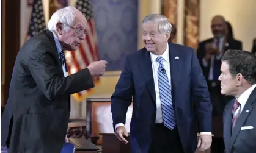
[[[223,16],[214,16],[211,21],[211,31],[214,37],[199,43],[197,49],[197,57],[207,80],[211,102],[213,102],[213,116],[222,116],[225,104],[232,99],[220,93],[218,77],[221,73],[219,70],[221,57],[228,49],[242,49],[241,41],[235,40],[233,35],[230,37],[233,32],[228,27]],[[225,29],[229,29],[229,32]]]

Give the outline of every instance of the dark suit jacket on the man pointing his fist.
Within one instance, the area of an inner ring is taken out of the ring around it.
[[[88,69],[64,77],[53,34],[45,30],[18,52],[1,119],[9,153],[59,153],[70,115],[70,94],[94,87]]]

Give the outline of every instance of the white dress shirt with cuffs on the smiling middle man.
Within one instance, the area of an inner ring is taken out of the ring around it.
[[[163,123],[163,114],[162,114],[162,106],[161,106],[161,100],[160,100],[160,93],[159,93],[159,87],[158,87],[158,67],[159,62],[156,61],[156,58],[159,57],[158,55],[153,54],[150,52],[151,57],[151,63],[152,63],[152,69],[153,69],[153,79],[155,84],[155,92],[156,92],[156,121],[155,123]],[[169,60],[169,45],[167,43],[166,51],[161,55],[163,57],[163,65],[164,69],[166,70],[166,74],[169,80],[170,88],[172,88],[172,85],[170,84],[170,60]],[[125,126],[123,123],[118,123],[115,125],[115,129],[119,126]],[[201,132],[200,134],[209,134],[211,135],[211,132]]]

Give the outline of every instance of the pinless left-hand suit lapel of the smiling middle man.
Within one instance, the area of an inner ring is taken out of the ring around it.
[[[143,80],[147,86],[147,89],[150,93],[150,96],[153,99],[153,102],[156,104],[156,91],[155,84],[153,79],[153,70],[152,70],[152,62],[150,57],[150,52],[147,51],[146,48],[142,49],[142,57],[139,60],[139,69],[141,70]]]

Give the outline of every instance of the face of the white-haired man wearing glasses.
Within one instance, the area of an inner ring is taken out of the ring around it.
[[[86,18],[82,15],[82,13],[78,13],[78,15],[76,15],[75,23],[68,26],[71,26],[74,29],[70,27],[70,30],[62,31],[62,35],[60,35],[60,41],[63,41],[65,43],[62,44],[62,48],[75,51],[79,48],[81,41],[84,40],[84,38],[86,37],[86,35],[84,34],[84,32],[86,32],[87,26]],[[79,34],[78,31],[80,31]],[[67,44],[68,46],[66,46]]]

